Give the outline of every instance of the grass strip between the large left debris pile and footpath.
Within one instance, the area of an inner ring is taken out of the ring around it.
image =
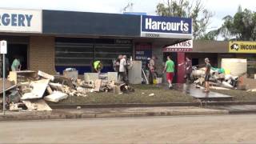
[[[87,97],[69,96],[58,104],[122,104],[122,103],[165,103],[195,102],[194,98],[177,90],[160,86],[134,85],[134,92],[114,94],[113,92],[88,93]],[[154,93],[154,96],[149,94]]]

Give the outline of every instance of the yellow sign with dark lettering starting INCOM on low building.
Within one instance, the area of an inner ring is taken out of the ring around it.
[[[231,41],[229,43],[229,52],[256,54],[256,42]]]

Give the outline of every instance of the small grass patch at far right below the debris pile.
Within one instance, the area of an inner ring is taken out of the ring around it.
[[[213,90],[221,94],[233,96],[234,101],[256,101],[256,92],[247,92],[245,90]]]

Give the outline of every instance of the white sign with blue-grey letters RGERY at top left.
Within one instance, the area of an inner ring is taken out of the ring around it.
[[[42,10],[0,9],[0,32],[42,33]]]

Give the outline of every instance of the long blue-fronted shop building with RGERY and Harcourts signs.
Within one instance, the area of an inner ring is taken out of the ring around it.
[[[69,67],[83,74],[94,60],[103,62],[103,72],[113,71],[118,54],[145,62],[161,54],[158,48],[192,38],[190,18],[12,9],[0,16],[10,63],[19,58],[22,70],[50,74]]]

